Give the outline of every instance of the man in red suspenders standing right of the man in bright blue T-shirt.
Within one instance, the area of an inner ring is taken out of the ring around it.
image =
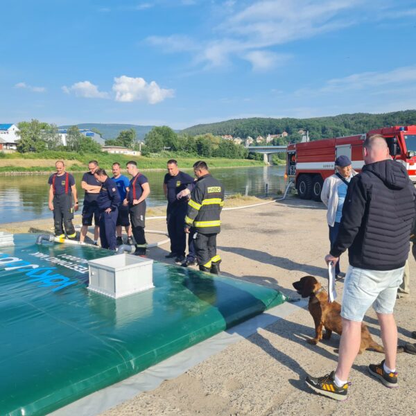
[[[146,176],[139,173],[137,163],[134,160],[127,162],[127,173],[132,175],[128,192],[123,205],[128,205],[130,223],[132,224],[133,236],[136,240],[136,256],[146,255],[146,238],[144,236],[144,225],[146,220],[146,198],[150,193],[150,186]]]

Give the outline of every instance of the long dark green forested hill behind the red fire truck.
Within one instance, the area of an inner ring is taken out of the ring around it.
[[[385,114],[340,114],[331,117],[317,117],[314,119],[236,119],[220,121],[219,123],[199,124],[186,128],[182,132],[189,135],[232,135],[245,139],[248,136],[279,135],[286,131],[289,135],[297,134],[298,130],[309,130],[312,140],[329,137],[340,137],[365,133],[374,128],[390,125],[416,124],[416,110],[390,112]]]

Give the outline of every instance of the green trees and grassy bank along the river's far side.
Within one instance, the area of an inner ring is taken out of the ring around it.
[[[62,142],[58,127],[37,120],[18,124],[20,139],[17,153],[0,152],[0,173],[35,173],[54,171],[52,160],[71,161],[71,171],[85,171],[89,160],[97,159],[103,168],[113,162],[122,166],[133,159],[140,169],[164,169],[167,159],[177,159],[181,168],[191,168],[198,159],[211,167],[261,166],[261,155],[250,155],[248,150],[233,141],[214,135],[178,135],[167,126],[155,127],[147,133],[144,144],[136,139],[133,129],[123,130],[116,139],[107,139],[107,146],[123,146],[132,150],[141,148],[141,156],[109,154],[91,137],[82,135],[78,126],[70,127]],[[99,133],[98,130],[96,132]],[[64,144],[63,144],[64,143]],[[260,157],[259,157],[260,156]],[[51,159],[49,164],[48,160]]]

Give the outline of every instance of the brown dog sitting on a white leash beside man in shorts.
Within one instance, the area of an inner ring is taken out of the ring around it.
[[[341,335],[343,326],[341,324],[341,305],[338,302],[328,303],[328,293],[313,276],[305,276],[300,281],[295,281],[293,287],[302,297],[309,296],[309,312],[315,322],[315,338],[308,340],[309,344],[316,345],[322,338],[329,340],[332,331]],[[322,336],[322,329],[325,333]],[[361,324],[361,345],[358,354],[363,354],[365,349],[374,349],[377,352],[384,352],[383,347],[377,344],[370,335],[367,326]]]

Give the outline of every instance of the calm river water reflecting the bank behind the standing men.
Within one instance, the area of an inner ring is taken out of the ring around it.
[[[192,171],[185,172],[192,175]],[[166,171],[144,172],[150,184],[148,207],[166,204],[162,184]],[[269,195],[284,191],[284,166],[263,166],[247,168],[212,168],[212,175],[225,187],[225,195],[235,193],[264,196],[266,184]],[[51,217],[48,209],[49,185],[47,175],[12,175],[0,176],[0,223],[15,223]],[[84,192],[80,189],[82,173],[75,175],[80,210],[83,207]]]

